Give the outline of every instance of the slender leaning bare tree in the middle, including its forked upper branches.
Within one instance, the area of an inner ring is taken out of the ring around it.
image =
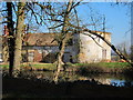
[[[57,72],[55,72],[55,76],[54,76],[54,82],[57,83],[58,82],[58,79],[59,79],[59,73],[60,73],[60,70],[62,68],[62,57],[64,54],[64,50],[65,50],[65,44],[66,44],[66,41],[68,41],[68,37],[70,37],[71,34],[69,33],[69,31],[71,30],[71,26],[70,26],[70,13],[72,11],[72,9],[74,9],[76,6],[79,6],[80,2],[73,4],[73,0],[69,0],[68,4],[66,4],[66,9],[64,11],[64,14],[63,14],[63,21],[60,26],[62,26],[62,30],[61,30],[61,41],[59,43],[59,54],[58,54],[58,64],[57,64]],[[60,27],[58,26],[58,27]],[[55,27],[54,27],[55,28]]]

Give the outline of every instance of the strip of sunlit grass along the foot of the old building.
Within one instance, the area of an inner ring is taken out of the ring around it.
[[[0,64],[2,68],[9,68],[8,64]],[[23,68],[30,68],[32,67],[33,69],[45,69],[45,70],[55,70],[55,64],[54,63],[39,63],[39,62],[33,62],[33,63],[22,63],[21,67]],[[127,62],[99,62],[99,63],[68,63],[69,68],[79,68],[79,67],[98,67],[98,68],[129,68],[130,64]]]

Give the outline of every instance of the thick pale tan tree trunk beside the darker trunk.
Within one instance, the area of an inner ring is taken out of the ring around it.
[[[14,46],[14,70],[20,70],[21,62],[21,48],[22,48],[22,33],[24,30],[24,6],[25,2],[18,3],[18,19],[17,19],[17,33],[16,33],[16,46]]]

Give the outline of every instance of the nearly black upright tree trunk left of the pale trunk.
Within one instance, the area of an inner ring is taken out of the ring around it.
[[[14,58],[14,32],[13,32],[13,20],[12,20],[12,2],[7,2],[8,10],[8,46],[9,46],[9,74],[12,76],[13,71],[13,58]]]

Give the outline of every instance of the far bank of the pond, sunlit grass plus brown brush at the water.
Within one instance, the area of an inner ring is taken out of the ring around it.
[[[7,64],[1,64],[2,69],[8,69]],[[22,70],[30,71],[55,71],[54,63],[21,64]],[[133,68],[127,62],[98,62],[98,63],[65,63],[62,71],[74,71],[80,74],[88,73],[125,73],[133,76]]]

